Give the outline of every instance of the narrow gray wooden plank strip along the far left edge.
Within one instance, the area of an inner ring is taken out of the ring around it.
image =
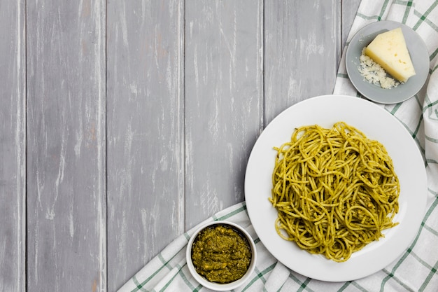
[[[26,289],[26,42],[21,1],[0,9],[0,291]]]

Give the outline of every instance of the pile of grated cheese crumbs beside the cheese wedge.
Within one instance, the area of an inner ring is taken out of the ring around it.
[[[400,82],[387,76],[385,69],[379,64],[374,62],[372,58],[365,55],[362,51],[360,55],[360,67],[358,67],[360,75],[362,75],[366,81],[374,85],[380,85],[383,89],[395,88]]]

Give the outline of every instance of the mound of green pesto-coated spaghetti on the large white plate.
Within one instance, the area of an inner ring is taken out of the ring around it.
[[[344,262],[397,225],[400,182],[379,141],[339,122],[299,127],[274,149],[269,200],[283,239]]]

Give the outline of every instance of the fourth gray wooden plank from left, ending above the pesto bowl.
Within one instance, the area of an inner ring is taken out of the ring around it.
[[[262,1],[186,1],[186,227],[244,200],[262,111]]]

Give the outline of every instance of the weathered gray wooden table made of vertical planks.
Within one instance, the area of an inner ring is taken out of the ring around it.
[[[0,291],[116,291],[244,200],[360,0],[0,0]]]

